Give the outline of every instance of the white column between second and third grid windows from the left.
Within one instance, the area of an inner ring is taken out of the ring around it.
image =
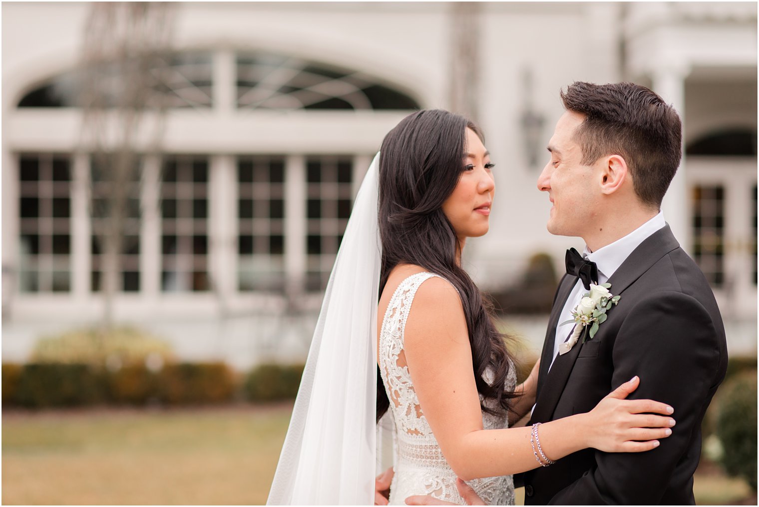
[[[159,214],[161,158],[146,156],[143,162],[142,221],[140,223],[140,294],[157,301],[161,292],[161,219]]]

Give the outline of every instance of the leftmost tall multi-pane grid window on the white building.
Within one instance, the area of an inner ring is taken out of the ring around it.
[[[71,291],[71,158],[19,156],[19,291]]]

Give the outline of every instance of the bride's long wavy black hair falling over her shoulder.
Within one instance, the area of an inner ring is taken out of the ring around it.
[[[441,207],[464,171],[467,128],[483,140],[472,121],[433,109],[407,116],[385,136],[379,153],[379,234],[383,248],[379,294],[399,263],[421,266],[451,282],[464,306],[477,392],[507,410],[514,395],[503,389],[513,367],[505,336],[493,325],[493,305],[456,263],[461,245]],[[493,369],[492,383],[483,379],[487,367]],[[378,372],[377,421],[389,404]]]

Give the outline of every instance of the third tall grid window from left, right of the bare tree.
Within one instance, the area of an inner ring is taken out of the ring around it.
[[[169,156],[161,184],[161,289],[208,291],[208,158]]]

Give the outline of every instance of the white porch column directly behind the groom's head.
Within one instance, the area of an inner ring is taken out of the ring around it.
[[[684,65],[663,65],[653,71],[653,91],[658,93],[665,102],[676,109],[683,124],[683,156],[675,178],[669,184],[669,190],[664,196],[662,209],[664,218],[672,228],[672,233],[679,240],[683,249],[690,253],[691,230],[688,186],[685,182],[685,77],[690,69]]]

